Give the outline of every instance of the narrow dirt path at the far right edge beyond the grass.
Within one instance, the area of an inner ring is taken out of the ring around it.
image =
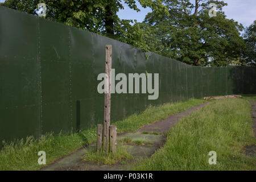
[[[254,132],[254,137],[256,137],[256,101],[250,101],[250,104],[251,104],[251,117],[254,120],[253,132]],[[256,146],[255,145],[254,146],[246,146],[245,154],[256,158]]]

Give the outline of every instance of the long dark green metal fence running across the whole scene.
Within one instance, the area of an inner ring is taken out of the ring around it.
[[[91,32],[0,6],[0,140],[102,123],[105,44],[115,73],[159,73],[159,98],[112,94],[112,122],[147,105],[256,93],[253,67],[193,67]]]

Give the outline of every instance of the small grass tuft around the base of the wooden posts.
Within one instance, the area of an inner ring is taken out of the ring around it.
[[[82,156],[82,159],[86,162],[112,165],[122,163],[124,160],[133,159],[133,156],[126,151],[126,146],[123,144],[117,145],[117,151],[115,153],[109,152],[96,152],[95,149],[90,149],[88,153]]]

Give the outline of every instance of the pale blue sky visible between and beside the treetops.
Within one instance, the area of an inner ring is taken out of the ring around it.
[[[5,2],[5,0],[0,0],[0,2]],[[256,0],[224,0],[224,2],[228,3],[228,6],[225,6],[223,10],[229,19],[242,23],[244,27],[256,20]],[[119,18],[137,19],[138,22],[142,22],[145,15],[151,10],[149,8],[143,9],[138,1],[137,6],[141,9],[138,13],[125,4],[125,9],[118,12]]]

